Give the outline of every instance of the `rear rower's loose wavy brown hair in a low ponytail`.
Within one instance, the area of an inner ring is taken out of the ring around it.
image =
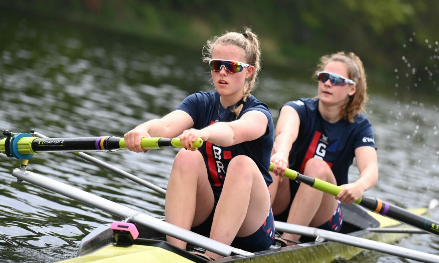
[[[345,104],[340,109],[340,117],[349,122],[354,122],[354,117],[360,112],[364,112],[365,105],[369,97],[367,96],[366,73],[364,72],[363,62],[353,52],[337,52],[320,58],[320,64],[317,65],[317,72],[323,71],[329,62],[342,62],[348,68],[348,78],[356,83],[356,90],[352,96],[349,96]],[[351,84],[348,84],[351,85]]]

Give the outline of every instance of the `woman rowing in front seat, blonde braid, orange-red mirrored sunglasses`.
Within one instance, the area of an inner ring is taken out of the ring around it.
[[[185,149],[169,177],[166,221],[240,249],[265,250],[274,240],[268,191],[274,126],[268,107],[250,94],[260,70],[259,41],[250,29],[228,32],[208,40],[203,55],[216,91],[192,94],[162,119],[140,124],[125,134],[126,146],[141,152],[142,137],[181,134]],[[198,151],[197,137],[205,141]]]

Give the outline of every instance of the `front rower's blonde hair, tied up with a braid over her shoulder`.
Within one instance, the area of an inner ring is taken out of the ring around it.
[[[245,59],[243,61],[255,67],[255,71],[252,76],[246,79],[245,93],[243,96],[244,101],[250,96],[250,92],[254,90],[258,84],[258,73],[261,70],[261,50],[259,47],[258,36],[252,32],[251,29],[244,29],[243,33],[227,32],[222,36],[215,36],[211,40],[207,40],[205,47],[203,48],[203,61],[209,63],[212,59],[213,48],[218,44],[235,45],[241,47],[245,52]],[[232,112],[238,116],[241,113],[243,104],[240,104],[236,108],[232,109]]]

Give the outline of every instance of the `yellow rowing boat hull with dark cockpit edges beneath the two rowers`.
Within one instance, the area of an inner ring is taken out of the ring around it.
[[[411,209],[416,214],[425,214],[426,208]],[[374,241],[391,243],[406,237],[406,233],[376,233],[366,230],[366,227],[407,227],[396,220],[359,209],[356,206],[343,206],[345,231],[355,230],[350,235],[367,238]],[[90,232],[81,241],[78,257],[61,261],[62,263],[86,262],[205,262],[204,259],[194,256],[185,250],[169,245],[165,236],[151,229],[137,226],[140,235],[135,245],[121,247],[113,245],[113,235],[110,225],[101,225]],[[363,228],[363,229],[360,229]],[[148,239],[144,239],[148,238]],[[152,239],[152,241],[151,241]],[[336,258],[351,259],[363,249],[343,245],[332,241],[309,241],[298,245],[278,247],[266,251],[256,252],[255,256],[228,256],[215,262],[252,263],[266,262],[298,262],[321,263],[332,262]]]

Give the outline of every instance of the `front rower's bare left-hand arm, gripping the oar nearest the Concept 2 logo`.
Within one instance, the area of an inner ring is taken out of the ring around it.
[[[187,112],[176,110],[162,119],[144,122],[125,133],[125,144],[131,151],[141,152],[143,149],[140,148],[140,140],[143,137],[173,138],[192,126],[194,126],[192,117]]]

